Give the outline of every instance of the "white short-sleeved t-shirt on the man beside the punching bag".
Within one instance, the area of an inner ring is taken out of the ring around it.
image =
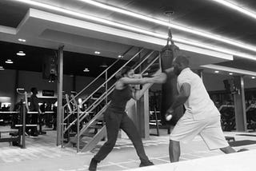
[[[178,92],[180,92],[183,83],[190,84],[190,97],[184,103],[186,108],[184,115],[187,117],[192,116],[194,119],[204,119],[220,115],[214,102],[210,99],[202,79],[197,74],[194,74],[190,68],[182,70],[181,74],[178,75]]]

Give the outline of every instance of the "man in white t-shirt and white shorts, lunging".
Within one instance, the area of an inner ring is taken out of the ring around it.
[[[185,106],[185,113],[170,133],[170,162],[179,160],[180,141],[189,142],[200,135],[208,149],[221,149],[224,153],[236,151],[227,143],[222,132],[220,113],[211,101],[209,94],[198,74],[189,68],[189,60],[185,56],[174,58],[173,67],[166,70],[178,76],[178,96],[166,112],[170,120],[179,105]]]

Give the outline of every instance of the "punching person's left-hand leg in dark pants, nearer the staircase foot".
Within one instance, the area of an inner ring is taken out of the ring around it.
[[[119,113],[107,112],[104,114],[106,121],[107,141],[99,149],[98,153],[90,161],[89,170],[96,170],[98,162],[102,161],[114,148],[118,138],[118,129],[122,115]]]

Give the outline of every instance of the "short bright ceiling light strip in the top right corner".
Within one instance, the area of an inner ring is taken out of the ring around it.
[[[245,8],[241,7],[242,5],[237,6],[233,2],[228,2],[228,1],[223,1],[223,0],[212,0],[212,1],[221,3],[223,6],[227,6],[233,10],[237,10],[238,12],[240,12],[242,14],[246,14],[247,16],[250,16],[251,18],[256,19],[256,14],[254,13],[254,11],[245,9]]]

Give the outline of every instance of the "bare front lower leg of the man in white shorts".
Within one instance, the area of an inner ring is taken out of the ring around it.
[[[169,143],[170,162],[179,161],[180,155],[181,155],[181,148],[180,148],[179,141],[170,140],[170,143]]]

